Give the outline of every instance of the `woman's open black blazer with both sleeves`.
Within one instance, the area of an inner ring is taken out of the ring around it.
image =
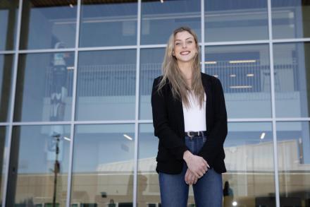
[[[185,126],[180,98],[174,99],[171,84],[157,91],[162,76],[155,78],[151,92],[154,135],[159,138],[157,172],[179,174],[182,172],[185,146]],[[223,143],[227,135],[227,113],[224,93],[218,78],[202,73],[202,84],[206,93],[206,142],[199,151],[216,172],[226,172]]]

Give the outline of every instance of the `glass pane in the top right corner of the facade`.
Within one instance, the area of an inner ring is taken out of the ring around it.
[[[309,1],[271,1],[273,38],[310,37]]]

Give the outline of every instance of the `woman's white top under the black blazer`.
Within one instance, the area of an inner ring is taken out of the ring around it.
[[[185,108],[183,105],[184,126],[185,131],[206,131],[206,93],[204,93],[204,104],[202,109],[199,107],[199,102],[194,98],[193,93],[188,92],[190,108]]]

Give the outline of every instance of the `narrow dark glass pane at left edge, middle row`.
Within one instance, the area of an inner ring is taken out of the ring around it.
[[[13,57],[0,54],[0,122],[8,122],[11,108]]]

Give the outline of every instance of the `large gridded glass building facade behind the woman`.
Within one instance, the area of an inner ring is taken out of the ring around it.
[[[307,0],[1,0],[1,206],[161,206],[150,95],[181,25],[225,93],[223,206],[310,206]]]

